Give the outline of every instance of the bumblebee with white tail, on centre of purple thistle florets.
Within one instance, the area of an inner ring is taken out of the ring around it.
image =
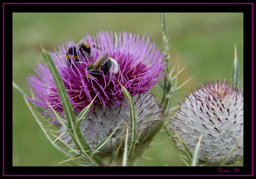
[[[112,72],[117,74],[119,71],[119,64],[116,62],[115,59],[111,58],[107,51],[103,51],[99,54],[96,61],[94,63],[89,63],[87,65],[87,72],[91,73],[91,76],[95,78],[99,78],[101,76],[101,71],[106,75],[109,76],[108,72],[110,71],[111,66],[114,67]],[[91,79],[91,76],[87,74],[88,79]]]

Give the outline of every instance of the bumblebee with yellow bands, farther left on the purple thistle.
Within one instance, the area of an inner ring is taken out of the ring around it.
[[[71,57],[73,56],[73,58],[75,59],[76,62],[79,62],[79,59],[78,59],[78,51],[81,53],[81,55],[83,57],[87,57],[87,58],[90,58],[92,59],[90,56],[91,56],[91,48],[89,46],[88,43],[86,43],[87,41],[87,36],[83,37],[77,44],[76,46],[73,46],[73,47],[70,47],[67,51],[67,54],[66,54],[66,58],[68,60],[68,64],[71,66]],[[93,48],[95,48],[95,44],[93,44]],[[99,49],[99,47],[96,47],[97,49]]]

